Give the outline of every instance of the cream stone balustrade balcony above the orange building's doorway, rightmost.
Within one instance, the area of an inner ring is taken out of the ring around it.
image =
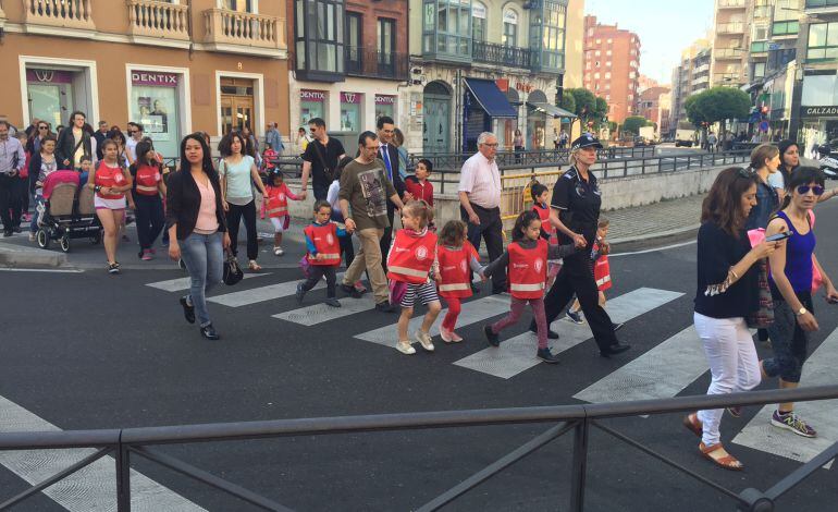
[[[287,50],[281,17],[208,9],[204,22],[205,42],[212,50],[268,57],[282,57]]]

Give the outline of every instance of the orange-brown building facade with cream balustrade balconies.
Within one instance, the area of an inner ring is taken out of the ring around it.
[[[258,5],[257,5],[258,4]],[[284,0],[4,1],[0,113],[145,125],[167,157],[200,130],[287,126]]]

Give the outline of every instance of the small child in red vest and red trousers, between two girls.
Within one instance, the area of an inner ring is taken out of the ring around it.
[[[461,310],[460,301],[471,296],[471,272],[480,273],[482,267],[475,246],[467,239],[468,227],[461,220],[449,220],[440,231],[436,259],[440,263],[440,295],[448,304],[448,313],[442,320],[440,338],[445,343],[459,343],[454,332]]]

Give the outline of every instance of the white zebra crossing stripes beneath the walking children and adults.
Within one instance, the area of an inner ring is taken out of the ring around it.
[[[246,278],[264,275],[246,275]],[[230,308],[242,308],[251,304],[269,303],[270,301],[291,297],[296,291],[297,282],[266,283],[268,279],[246,281],[227,292],[208,298],[209,302]],[[250,283],[258,283],[249,288]],[[176,292],[188,289],[188,279],[178,278],[169,281],[158,281],[147,284],[164,292]],[[322,304],[323,292],[318,292],[324,283],[309,292],[306,303],[297,306],[291,301],[282,302],[285,310],[270,315],[272,321],[311,328],[328,322],[345,326],[345,336],[356,342],[371,343],[392,350],[397,339],[396,316],[373,313],[374,302],[371,294],[362,298],[340,298],[342,307],[335,308]],[[620,402],[631,400],[665,399],[676,397],[690,385],[701,378],[707,370],[707,361],[701,342],[692,327],[691,316],[685,318],[664,318],[658,315],[660,308],[685,296],[681,292],[639,288],[608,301],[607,309],[614,321],[630,322],[644,315],[657,315],[665,321],[680,324],[681,330],[670,338],[661,341],[644,353],[632,351],[628,353],[625,363],[612,373],[580,389],[574,399],[591,403]],[[288,308],[288,304],[293,304]],[[520,334],[504,338],[500,348],[486,348],[480,329],[476,325],[494,321],[509,310],[509,297],[502,295],[477,295],[463,304],[463,310],[457,321],[457,329],[471,334],[464,346],[473,346],[473,352],[448,364],[468,370],[464,375],[483,375],[500,379],[513,379],[540,364],[535,358],[535,334],[526,331]],[[438,337],[440,325],[445,316],[443,309],[431,329],[431,336]],[[356,319],[363,318],[358,322]],[[357,326],[369,326],[370,318],[380,319],[379,327],[362,332]],[[529,316],[526,316],[529,318]],[[409,331],[412,333],[422,322],[422,315],[417,313],[410,320]],[[587,324],[577,325],[564,319],[557,319],[551,326],[560,333],[560,339],[551,340],[554,353],[562,354],[582,343],[593,345],[593,336]],[[520,331],[520,328],[518,329]],[[438,343],[440,344],[440,343]],[[393,357],[403,357],[392,351]],[[559,365],[559,367],[569,367]],[[838,330],[812,354],[804,367],[803,382],[805,386],[835,383],[834,368],[838,367]],[[769,425],[772,406],[766,406],[734,438],[734,442],[754,450],[760,450],[794,461],[806,462],[824,448],[838,441],[838,401],[812,402],[799,404],[797,410],[818,429],[818,437],[804,439]]]

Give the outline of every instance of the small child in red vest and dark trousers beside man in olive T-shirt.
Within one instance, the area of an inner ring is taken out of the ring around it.
[[[325,277],[325,303],[332,307],[341,307],[335,298],[336,270],[341,266],[341,236],[346,236],[346,230],[337,222],[330,220],[332,206],[328,200],[318,200],[315,204],[315,222],[307,225],[303,233],[306,235],[308,254],[306,259],[309,265],[309,273],[305,281],[297,284],[296,297],[303,303],[306,292],[315,288]]]

